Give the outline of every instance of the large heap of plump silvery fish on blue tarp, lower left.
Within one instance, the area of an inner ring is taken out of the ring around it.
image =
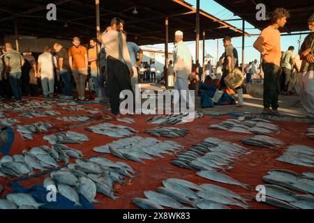
[[[135,171],[125,162],[112,162],[104,157],[91,157],[89,160],[75,160],[75,164],[68,164],[45,178],[45,188],[54,186],[57,192],[75,206],[81,206],[80,195],[91,203],[96,201],[97,192],[111,199],[116,197],[114,183],[124,184],[124,178],[134,178]]]

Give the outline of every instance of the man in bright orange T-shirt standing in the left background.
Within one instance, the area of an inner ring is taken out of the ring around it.
[[[73,72],[79,100],[85,100],[85,82],[88,74],[89,59],[86,47],[80,45],[80,43],[80,38],[73,38],[73,47],[68,49],[68,59]]]

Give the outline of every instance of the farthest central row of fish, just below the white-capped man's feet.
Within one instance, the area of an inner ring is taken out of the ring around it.
[[[170,114],[167,116],[152,116],[147,119],[147,123],[157,125],[179,125],[193,121],[196,118],[201,118],[202,116],[203,114],[201,112]]]

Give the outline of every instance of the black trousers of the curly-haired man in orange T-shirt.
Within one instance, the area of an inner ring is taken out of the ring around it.
[[[262,69],[264,71],[264,107],[278,109],[278,95],[280,91],[280,67],[273,63],[262,62]]]

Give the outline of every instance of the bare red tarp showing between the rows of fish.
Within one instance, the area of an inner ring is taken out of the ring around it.
[[[91,106],[94,108],[103,108],[102,105],[91,105],[91,104],[83,104],[86,106]],[[61,110],[61,108],[54,108],[54,111],[61,112],[59,116],[66,115],[79,115],[86,114],[85,111],[80,112],[66,112]],[[22,123],[35,123],[38,121],[50,121],[59,127],[59,130],[64,128],[64,125],[71,125],[73,123],[64,123],[52,121],[51,118],[56,116],[48,116],[41,118],[20,118],[18,114],[8,113],[10,118],[18,118]],[[147,130],[149,128],[154,128],[156,125],[151,125],[146,123],[146,119],[149,115],[137,115],[137,116],[129,116],[135,120],[135,124],[128,123],[119,123],[117,121],[110,121],[110,123],[119,124],[119,125],[127,125],[131,128],[134,128],[138,131],[136,135],[140,135],[142,137],[151,137],[149,134],[143,132],[143,130]],[[97,194],[96,200],[101,201],[101,203],[97,203],[94,205],[94,208],[137,208],[130,199],[133,197],[142,197],[144,198],[144,190],[153,190],[156,191],[156,187],[162,186],[162,180],[167,178],[181,178],[185,180],[190,180],[194,183],[214,183],[216,185],[220,185],[226,187],[227,189],[233,190],[234,192],[239,193],[241,196],[251,199],[248,203],[250,208],[274,208],[272,206],[265,205],[263,203],[258,203],[253,198],[255,197],[255,187],[257,185],[264,184],[262,180],[262,176],[267,174],[267,171],[270,169],[289,169],[291,171],[295,171],[301,174],[304,171],[313,171],[310,167],[300,167],[292,164],[285,164],[283,162],[276,161],[276,158],[279,157],[284,151],[286,146],[282,148],[260,148],[255,146],[248,146],[242,144],[240,139],[244,137],[252,137],[252,134],[244,134],[237,132],[227,132],[222,130],[211,130],[209,129],[209,125],[220,123],[227,118],[234,118],[232,116],[203,116],[202,118],[198,118],[193,123],[186,123],[184,125],[177,126],[178,128],[186,128],[189,130],[189,133],[186,137],[181,137],[177,139],[170,139],[174,141],[178,141],[181,145],[185,146],[185,148],[189,148],[196,144],[197,142],[203,141],[207,137],[217,137],[219,139],[223,139],[225,141],[234,142],[244,146],[252,151],[251,154],[241,156],[238,160],[235,160],[234,164],[232,164],[232,169],[228,169],[225,171],[225,174],[228,176],[241,181],[241,183],[245,183],[251,185],[250,190],[244,190],[243,188],[235,185],[227,185],[222,183],[216,183],[211,180],[207,180],[197,176],[195,171],[191,171],[188,169],[181,169],[177,166],[171,164],[171,160],[175,155],[165,155],[165,158],[158,158],[155,162],[152,160],[144,160],[145,165],[139,164],[137,162],[127,162],[128,164],[137,171],[137,177],[133,180],[128,180],[122,187],[118,184],[114,185],[114,188],[117,190],[117,196],[121,197],[121,199],[117,199],[114,201],[105,197],[103,194]],[[306,137],[306,128],[310,125],[302,124],[302,123],[281,123],[281,122],[273,122],[276,125],[281,127],[281,131],[273,135],[276,139],[281,139],[285,141],[287,144],[302,144],[306,146],[313,146],[313,139],[308,139]],[[19,123],[21,124],[21,123]],[[98,125],[98,124],[94,124]],[[110,143],[115,140],[119,140],[117,138],[107,137],[104,135],[94,134],[93,132],[88,132],[84,130],[86,126],[73,128],[72,131],[77,131],[86,134],[89,137],[89,141],[84,142],[83,144],[69,144],[71,148],[78,148],[84,153],[84,157],[91,157],[93,155],[100,155],[100,153],[94,152],[92,149],[96,146],[102,146],[107,143]],[[52,133],[56,130],[52,130]],[[10,155],[22,153],[22,151],[27,148],[33,148],[35,146],[47,145],[51,146],[47,141],[45,141],[43,136],[45,134],[33,134],[33,140],[24,141],[21,139],[20,134],[18,134],[15,130],[15,141],[10,150]],[[168,138],[158,138],[161,140],[169,140]],[[1,155],[0,155],[1,156]],[[115,162],[123,161],[117,157],[114,157],[110,154],[103,154],[103,157],[107,157]],[[74,162],[74,160],[71,160]],[[38,178],[31,178],[27,181],[22,181],[21,185],[26,187],[30,187],[34,184],[42,184],[44,178],[46,176],[40,176]],[[15,178],[11,178],[14,180]],[[10,180],[10,179],[9,179]],[[6,186],[8,183],[8,179],[0,178],[0,182]],[[10,192],[10,187],[6,186],[6,190],[3,192],[2,196],[6,193]],[[1,196],[1,197],[2,197]],[[237,207],[232,207],[237,208]]]

